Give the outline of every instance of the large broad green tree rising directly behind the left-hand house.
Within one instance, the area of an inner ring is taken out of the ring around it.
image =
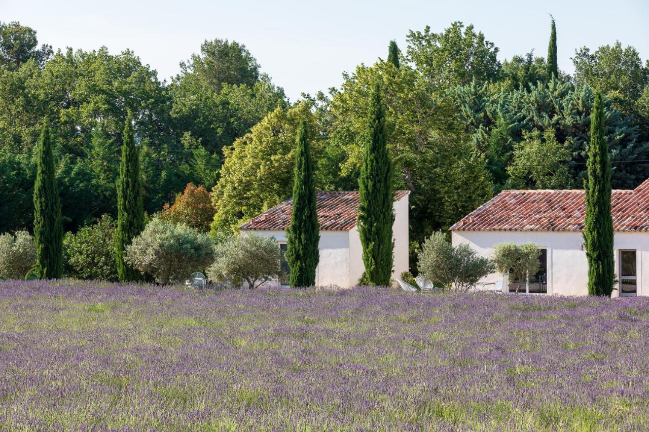
[[[450,98],[438,95],[419,71],[402,64],[359,66],[345,75],[318,123],[327,138],[324,154],[334,165],[319,173],[330,178],[328,189],[356,189],[363,165],[365,130],[371,90],[381,83],[387,146],[394,164],[393,188],[408,189],[410,238],[447,229],[491,197],[493,187],[484,155],[472,149]],[[412,256],[415,259],[415,256]],[[414,261],[412,261],[414,262]]]

